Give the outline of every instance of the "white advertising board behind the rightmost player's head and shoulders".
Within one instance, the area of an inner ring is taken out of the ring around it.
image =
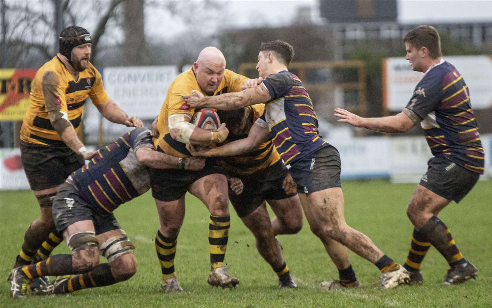
[[[492,58],[488,55],[444,56],[460,72],[470,91],[474,109],[492,107]],[[404,57],[383,60],[383,106],[401,111],[424,73],[414,72]]]

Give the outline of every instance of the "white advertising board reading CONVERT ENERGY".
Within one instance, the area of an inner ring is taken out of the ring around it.
[[[106,67],[102,80],[109,97],[129,116],[150,120],[159,114],[167,89],[178,75],[175,65]]]

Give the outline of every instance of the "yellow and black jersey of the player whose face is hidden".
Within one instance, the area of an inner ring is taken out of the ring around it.
[[[248,117],[248,128],[245,133],[241,136],[236,136],[229,133],[229,136],[221,145],[234,140],[246,138],[249,130],[256,120],[261,117],[264,110],[265,104],[247,106],[246,115]],[[269,139],[267,142],[262,143],[258,148],[252,150],[251,152],[238,156],[221,157],[220,159],[220,164],[229,175],[245,176],[270,167],[280,159],[280,155],[273,146],[272,140]]]

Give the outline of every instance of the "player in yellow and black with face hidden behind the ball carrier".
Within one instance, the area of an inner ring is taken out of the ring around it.
[[[246,138],[264,109],[264,104],[256,104],[232,111],[218,110],[220,121],[229,129],[229,136],[221,145]],[[277,273],[278,287],[296,287],[275,236],[299,232],[303,226],[303,210],[295,189],[286,192],[282,188],[292,178],[287,177],[287,168],[272,141],[253,147],[246,154],[220,157],[219,163],[228,177],[243,182],[243,192],[239,195],[229,192],[229,200],[256,238],[258,252]],[[265,201],[276,214],[272,220]]]

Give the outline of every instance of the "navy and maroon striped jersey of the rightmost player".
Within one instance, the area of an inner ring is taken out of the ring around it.
[[[484,173],[484,149],[460,72],[441,60],[415,87],[405,107],[421,119],[434,156],[449,158],[463,168]]]

